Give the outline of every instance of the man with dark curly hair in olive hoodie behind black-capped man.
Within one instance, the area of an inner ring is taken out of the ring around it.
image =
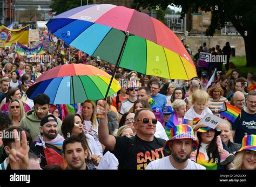
[[[33,99],[33,103],[35,105],[35,110],[30,110],[26,113],[25,117],[22,118],[19,123],[20,127],[28,128],[30,130],[30,135],[32,140],[35,141],[38,139],[39,135],[39,126],[41,123],[41,119],[50,114],[49,113],[49,104],[50,98],[45,94],[38,94]],[[58,121],[58,133],[61,133],[62,120],[57,118]]]

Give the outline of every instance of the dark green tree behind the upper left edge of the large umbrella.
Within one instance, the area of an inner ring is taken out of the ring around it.
[[[82,0],[82,5],[86,5],[87,0]],[[88,4],[93,4],[92,0],[88,1]],[[52,12],[56,12],[59,15],[62,12],[81,6],[81,0],[52,0],[50,8]]]

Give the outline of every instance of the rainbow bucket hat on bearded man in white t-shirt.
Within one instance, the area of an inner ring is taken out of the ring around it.
[[[178,139],[192,139],[193,140],[193,148],[192,151],[196,150],[198,147],[198,142],[196,141],[196,134],[194,134],[193,128],[189,125],[181,124],[176,125],[170,130],[171,139],[165,142],[164,149],[168,154],[171,154],[170,143],[173,140]]]

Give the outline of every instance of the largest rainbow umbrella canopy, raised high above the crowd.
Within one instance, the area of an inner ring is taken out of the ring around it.
[[[178,37],[159,20],[124,6],[86,5],[46,24],[70,46],[119,67],[169,79],[197,76]]]

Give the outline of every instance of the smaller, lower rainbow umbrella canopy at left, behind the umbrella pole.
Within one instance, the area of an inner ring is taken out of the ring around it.
[[[94,66],[65,64],[38,77],[26,95],[33,99],[38,93],[45,93],[50,97],[51,104],[83,103],[86,99],[104,98],[110,80],[109,74]],[[113,79],[108,96],[119,89],[119,82]]]

